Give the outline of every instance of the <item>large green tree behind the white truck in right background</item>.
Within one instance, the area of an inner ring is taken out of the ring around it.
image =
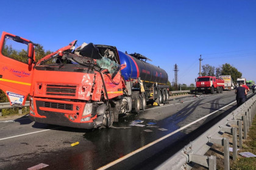
[[[231,75],[232,80],[236,83],[237,78],[242,77],[242,73],[230,64],[222,64],[221,75]]]

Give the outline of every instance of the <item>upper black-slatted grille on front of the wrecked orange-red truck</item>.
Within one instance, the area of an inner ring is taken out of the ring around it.
[[[76,85],[46,84],[46,95],[76,96]]]

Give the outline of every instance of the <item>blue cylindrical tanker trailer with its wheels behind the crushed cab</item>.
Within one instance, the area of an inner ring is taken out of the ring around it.
[[[146,63],[149,60],[139,53],[128,55],[118,51],[121,66],[121,74],[128,84],[132,84],[132,108],[133,112],[138,112],[138,105],[140,101],[137,96],[141,96],[141,107],[144,110],[146,103],[157,104],[168,102],[169,89],[166,85],[168,82],[168,75],[165,70],[152,64]],[[149,60],[151,61],[151,60]],[[136,95],[137,93],[137,95]]]

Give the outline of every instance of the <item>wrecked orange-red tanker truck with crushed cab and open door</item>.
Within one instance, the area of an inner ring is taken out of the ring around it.
[[[35,62],[37,44],[3,32],[0,89],[10,104],[24,106],[29,95],[31,120],[93,129],[110,127],[119,115],[144,110],[147,102],[168,101],[167,73],[145,56],[92,43],[75,48],[76,43]]]

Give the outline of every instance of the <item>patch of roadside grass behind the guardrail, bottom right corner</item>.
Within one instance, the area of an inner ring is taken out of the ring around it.
[[[251,152],[252,154],[256,154],[256,117],[252,122],[248,136],[247,140],[243,142],[243,149],[239,152]],[[256,157],[245,158],[239,155],[236,161],[233,161],[230,169],[256,170]]]

